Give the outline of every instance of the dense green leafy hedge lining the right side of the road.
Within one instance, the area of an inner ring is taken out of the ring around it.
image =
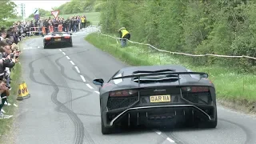
[[[125,26],[134,41],[163,50],[256,57],[256,1],[107,0],[100,23],[106,33],[117,34]],[[256,70],[256,61],[248,58],[186,60],[201,66],[230,66],[239,72]]]

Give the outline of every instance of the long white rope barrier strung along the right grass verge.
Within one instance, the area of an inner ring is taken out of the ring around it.
[[[101,32],[101,29],[100,29],[100,26],[90,26],[90,28],[93,28],[95,29],[93,33],[98,33],[100,35],[103,35],[103,36],[106,36],[106,37],[110,37],[110,38],[114,38],[114,39],[126,39],[126,38],[116,38],[116,37],[113,37],[111,35],[108,35],[108,34],[102,34]],[[97,29],[97,30],[96,30]],[[93,31],[93,30],[91,30]],[[250,58],[250,59],[254,59],[256,60],[256,58],[254,57],[250,57],[250,56],[247,56],[247,55],[222,55],[222,54],[187,54],[187,53],[181,53],[181,52],[175,52],[175,51],[168,51],[168,50],[161,50],[161,49],[158,49],[157,47],[155,46],[152,46],[148,43],[141,43],[141,42],[133,42],[133,41],[130,41],[129,39],[126,39],[128,42],[131,42],[131,43],[134,43],[134,44],[138,44],[138,45],[144,45],[144,46],[150,46],[150,48],[153,48],[154,50],[158,50],[160,52],[164,52],[164,53],[170,53],[170,54],[181,54],[181,55],[186,55],[186,56],[190,56],[190,57],[206,57],[206,56],[213,56],[213,57],[221,57],[221,58]]]

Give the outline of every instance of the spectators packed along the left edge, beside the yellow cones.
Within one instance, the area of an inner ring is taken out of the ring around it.
[[[18,42],[21,41],[18,25],[14,24],[9,29],[4,27],[0,30],[0,118],[4,117],[2,107],[8,106],[8,97],[10,96],[10,71],[14,69],[18,62],[20,50]]]

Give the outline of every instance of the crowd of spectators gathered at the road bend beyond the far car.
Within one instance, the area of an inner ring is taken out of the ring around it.
[[[30,22],[16,22],[22,38],[30,37],[34,34],[47,34],[49,32],[66,31],[77,32],[86,28],[86,16],[74,16],[70,18],[39,18]]]

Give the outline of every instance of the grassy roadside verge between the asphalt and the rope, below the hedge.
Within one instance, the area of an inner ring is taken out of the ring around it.
[[[184,56],[161,53],[148,46],[130,42],[122,49],[120,42],[114,38],[98,34],[89,34],[85,39],[131,66],[181,64],[190,70],[206,72],[216,86],[220,102],[225,100],[246,106],[248,109],[253,107],[256,111],[256,75],[254,74],[237,74],[235,70],[222,66],[193,66],[189,62],[182,61]]]

